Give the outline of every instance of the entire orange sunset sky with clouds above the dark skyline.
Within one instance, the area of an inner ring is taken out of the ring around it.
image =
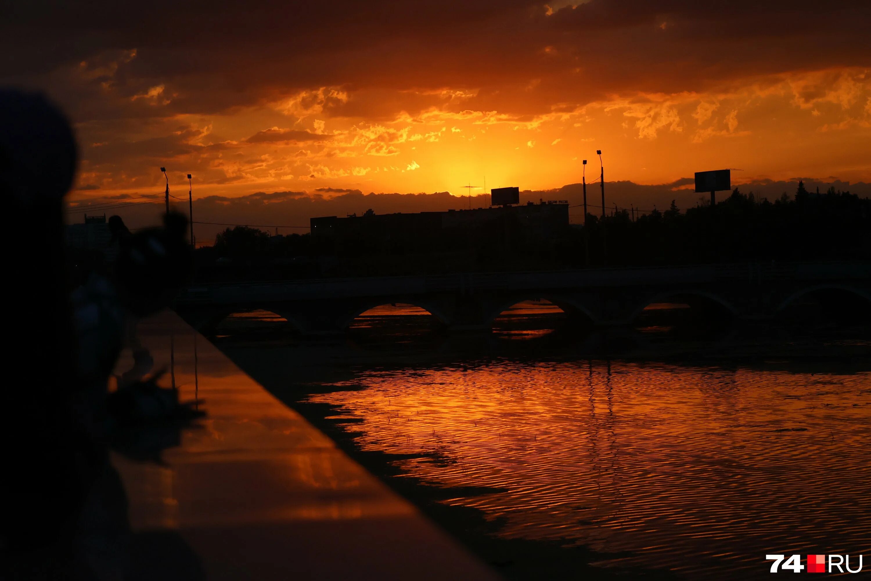
[[[871,181],[864,1],[4,10],[3,84],[76,126],[73,200],[159,194],[160,166],[198,197],[559,188],[596,149],[606,181]]]

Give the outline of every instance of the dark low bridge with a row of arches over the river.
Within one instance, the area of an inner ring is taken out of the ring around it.
[[[719,304],[736,318],[773,318],[813,291],[838,290],[871,309],[871,263],[750,263],[652,268],[323,278],[205,284],[182,291],[175,308],[208,331],[233,312],[273,311],[307,335],[344,332],[380,304],[420,306],[451,330],[490,329],[523,300],[547,299],[594,325],[627,325],[652,303]]]

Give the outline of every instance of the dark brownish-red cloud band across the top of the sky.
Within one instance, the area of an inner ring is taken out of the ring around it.
[[[388,116],[434,99],[365,91],[451,86],[481,89],[471,107],[534,114],[617,92],[871,65],[865,0],[591,0],[550,16],[544,4],[37,0],[9,7],[0,76],[47,85],[89,120],[227,112],[331,85],[350,95],[333,113]]]

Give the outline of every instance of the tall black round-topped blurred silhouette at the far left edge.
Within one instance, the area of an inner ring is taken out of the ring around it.
[[[87,447],[70,413],[78,386],[64,276],[63,197],[76,164],[62,113],[40,95],[0,90],[0,196],[10,215],[29,218],[0,229],[9,249],[3,371],[20,378],[4,382],[0,405],[8,450],[2,548],[10,553],[59,550],[84,497]]]

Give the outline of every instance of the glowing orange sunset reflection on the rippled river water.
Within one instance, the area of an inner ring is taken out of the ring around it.
[[[506,359],[330,387],[309,401],[360,448],[493,489],[446,502],[505,537],[631,551],[601,566],[734,578],[767,574],[766,553],[871,549],[869,373]]]

